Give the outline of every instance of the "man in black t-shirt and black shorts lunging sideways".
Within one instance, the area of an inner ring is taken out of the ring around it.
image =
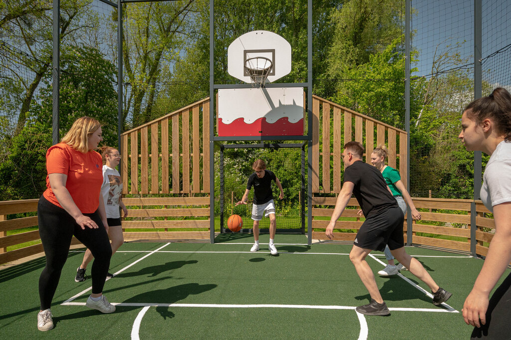
[[[371,296],[369,304],[359,306],[356,310],[365,315],[390,314],[376,285],[373,270],[365,260],[371,251],[383,252],[386,244],[400,263],[403,263],[413,275],[429,286],[433,295],[433,304],[438,306],[444,303],[452,294],[440,288],[421,262],[405,252],[403,211],[388,189],[381,172],[376,167],[362,161],[363,153],[364,147],[358,142],[349,142],[344,145],[342,154],[344,182],[326,230],[326,235],[332,239],[337,219],[346,208],[352,193],[355,194],[364,213],[365,221],[355,236],[350,260],[355,265],[358,276]]]

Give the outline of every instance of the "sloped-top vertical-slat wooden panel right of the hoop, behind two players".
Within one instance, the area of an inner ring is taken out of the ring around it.
[[[406,131],[317,96],[312,96],[312,116],[313,193],[338,193],[342,183],[343,145],[350,141],[362,143],[365,161],[369,163],[370,154],[375,149],[375,135],[376,146],[388,148],[388,165],[398,169],[401,180],[407,183]]]

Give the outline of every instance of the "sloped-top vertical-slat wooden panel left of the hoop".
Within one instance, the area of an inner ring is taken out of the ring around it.
[[[123,194],[210,192],[210,99],[121,134]]]

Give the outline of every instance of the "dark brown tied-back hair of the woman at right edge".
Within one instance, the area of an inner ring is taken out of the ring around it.
[[[497,87],[491,95],[474,100],[464,112],[477,125],[490,118],[497,131],[504,135],[504,140],[511,142],[511,95],[505,88]]]

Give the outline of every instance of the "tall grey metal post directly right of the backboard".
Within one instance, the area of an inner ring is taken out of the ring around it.
[[[307,239],[312,244],[312,0],[307,1]]]

